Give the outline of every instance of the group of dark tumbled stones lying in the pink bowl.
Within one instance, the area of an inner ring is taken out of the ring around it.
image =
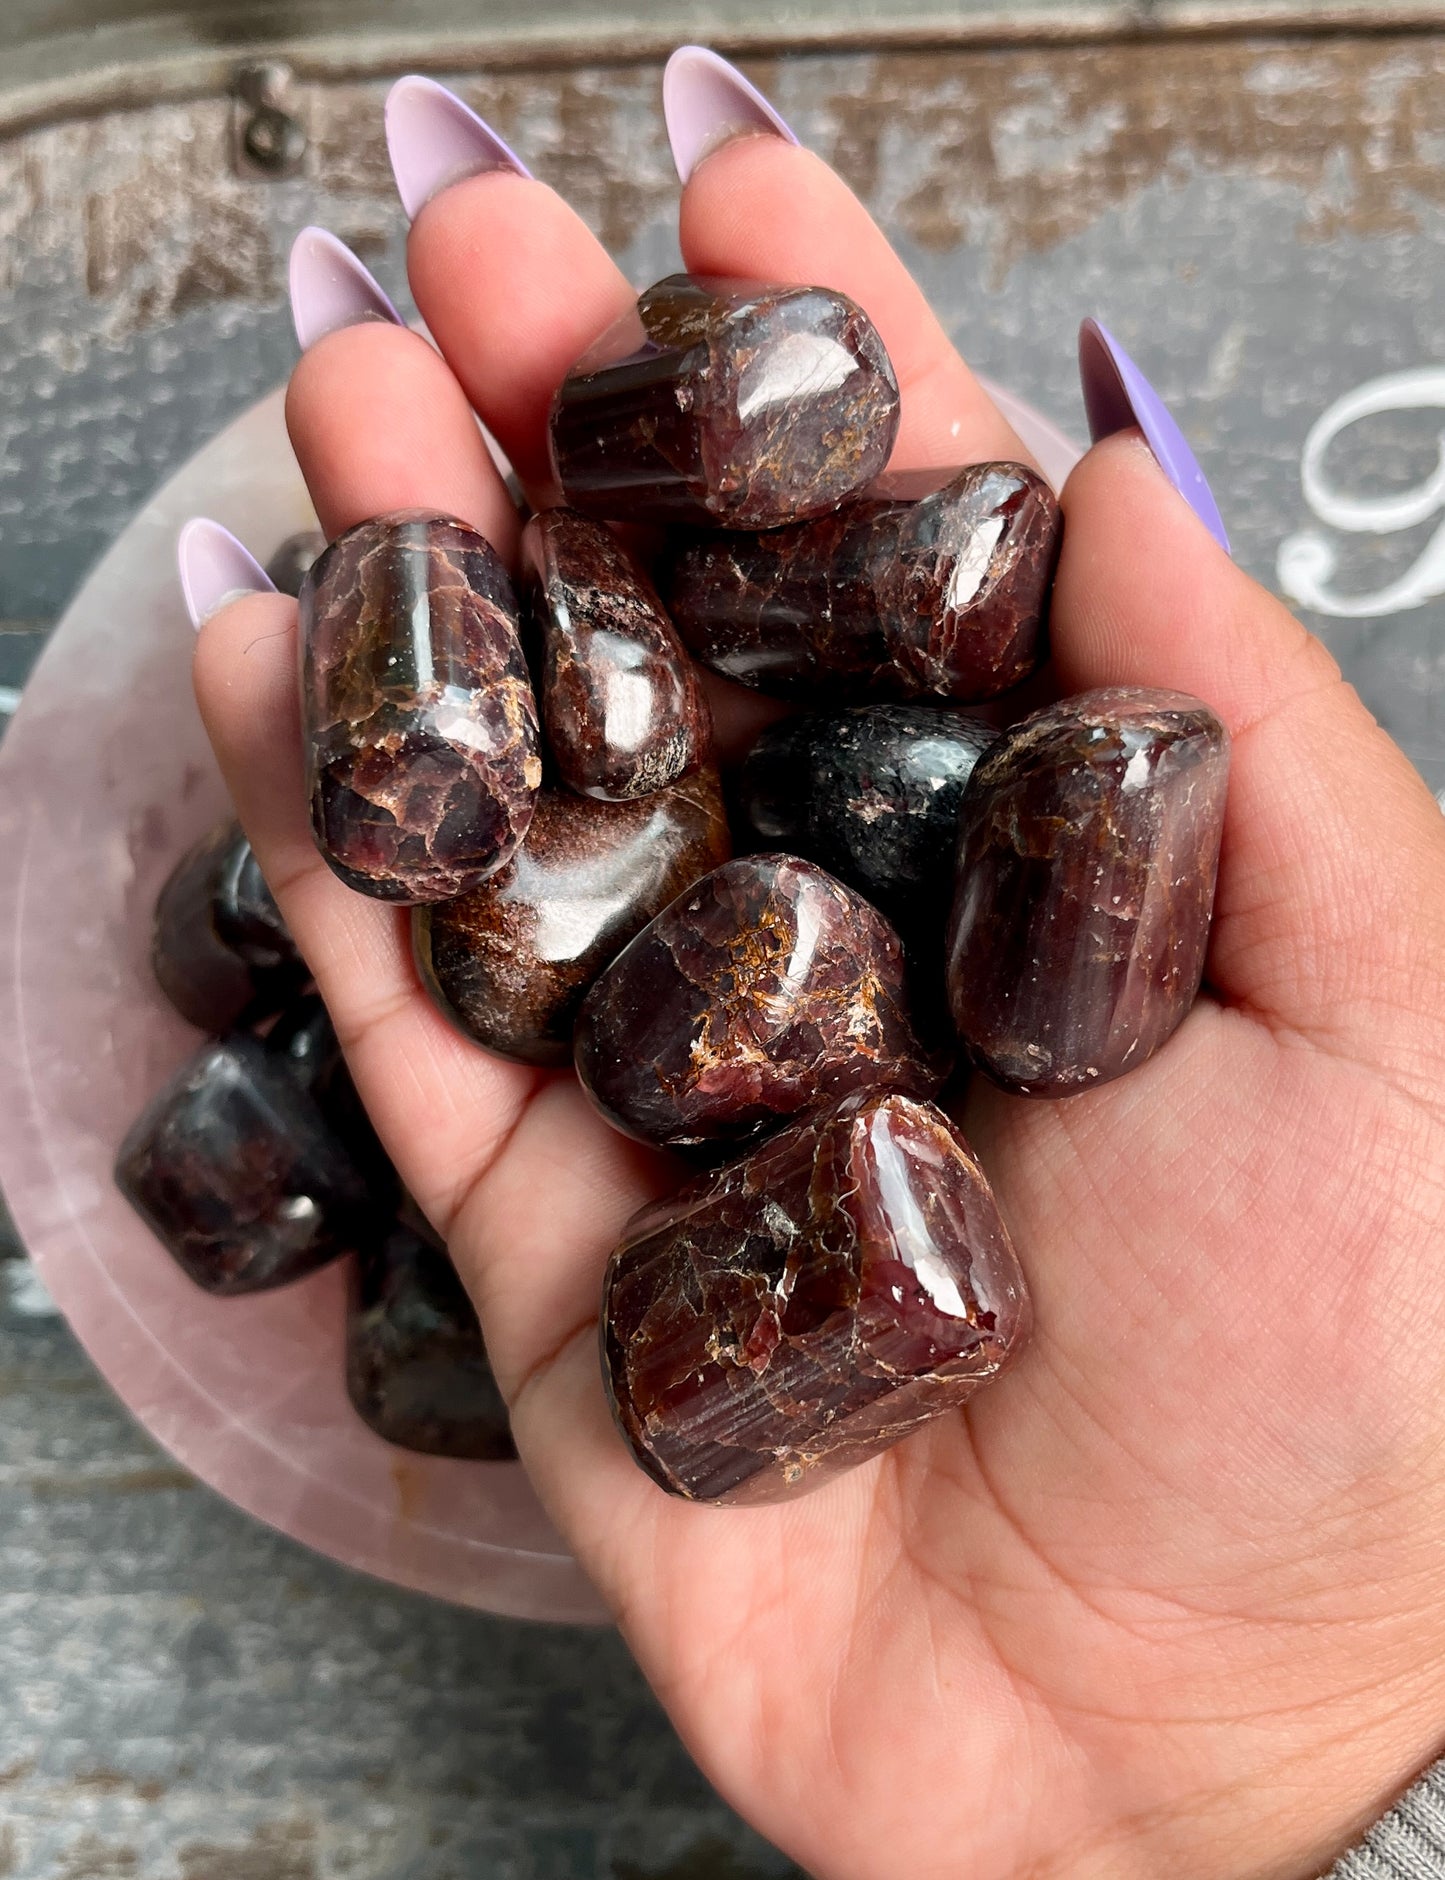
[[[286,541],[276,585],[297,587],[321,547]],[[171,1004],[212,1036],[128,1132],[122,1194],[216,1297],[350,1258],[346,1386],[361,1418],[404,1449],[515,1455],[475,1308],[366,1120],[239,823],[171,872],[150,959]]]

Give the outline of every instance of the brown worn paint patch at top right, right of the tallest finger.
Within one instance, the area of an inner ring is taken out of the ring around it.
[[[829,100],[823,154],[893,197],[921,248],[985,246],[996,284],[1159,180],[1293,188],[1315,243],[1415,231],[1421,203],[1445,201],[1436,39],[893,56],[864,73]]]

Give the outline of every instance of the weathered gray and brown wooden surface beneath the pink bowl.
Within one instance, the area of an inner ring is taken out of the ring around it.
[[[1282,543],[1315,532],[1336,590],[1396,587],[1392,611],[1306,617],[1445,788],[1445,603],[1417,570],[1439,515],[1338,528],[1300,485],[1315,419],[1407,368],[1417,402],[1342,436],[1328,481],[1400,498],[1437,462],[1445,38],[752,71],[975,365],[1079,432],[1073,333],[1099,314],[1199,449],[1246,568],[1276,583]],[[656,66],[551,62],[462,86],[639,282],[675,259],[656,85]],[[278,184],[229,173],[214,100],[0,143],[0,686],[147,491],[286,372],[297,227],[329,224],[404,299],[381,90],[303,85],[310,152]],[[0,1273],[0,1874],[785,1871],[614,1639],[453,1613],[263,1532],[130,1425],[19,1263]]]

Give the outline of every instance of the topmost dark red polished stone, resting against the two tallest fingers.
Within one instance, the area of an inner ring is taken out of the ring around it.
[[[567,372],[551,431],[573,509],[772,528],[878,476],[898,382],[842,293],[669,274]]]

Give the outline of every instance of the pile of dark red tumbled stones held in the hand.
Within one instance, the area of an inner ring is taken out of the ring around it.
[[[1060,508],[1017,462],[889,476],[896,432],[844,295],[671,276],[558,389],[521,596],[428,513],[301,585],[329,865],[412,904],[466,1034],[693,1162],[601,1301],[618,1429],[693,1500],[802,1493],[1017,1357],[1024,1277],[940,1094],[1135,1070],[1204,966],[1223,728],[1144,690],[981,709],[1045,660]],[[812,709],[720,778],[699,666]]]

